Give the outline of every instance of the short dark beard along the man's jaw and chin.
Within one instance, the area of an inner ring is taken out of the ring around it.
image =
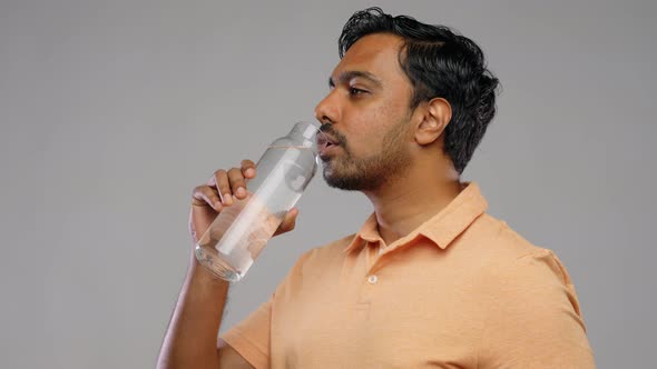
[[[324,162],[326,184],[347,191],[372,191],[394,182],[411,163],[405,141],[408,124],[403,120],[392,127],[383,137],[381,151],[366,158],[355,158],[346,142],[341,141],[344,152]]]

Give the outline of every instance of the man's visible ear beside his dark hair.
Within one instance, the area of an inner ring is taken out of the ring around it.
[[[452,106],[443,98],[433,98],[418,110],[421,113],[415,141],[422,146],[432,143],[452,119]]]

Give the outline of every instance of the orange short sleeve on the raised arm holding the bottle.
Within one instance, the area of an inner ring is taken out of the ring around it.
[[[269,367],[269,330],[274,295],[246,319],[233,326],[222,339],[256,369]]]

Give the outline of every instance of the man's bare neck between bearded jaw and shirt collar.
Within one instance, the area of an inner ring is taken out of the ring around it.
[[[460,193],[459,174],[451,163],[440,167],[437,168],[435,160],[416,162],[394,181],[364,192],[374,206],[385,245],[409,235]]]

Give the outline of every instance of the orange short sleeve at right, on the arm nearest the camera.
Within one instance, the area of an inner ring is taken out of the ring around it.
[[[595,368],[575,286],[552,251],[489,277],[479,367]]]

